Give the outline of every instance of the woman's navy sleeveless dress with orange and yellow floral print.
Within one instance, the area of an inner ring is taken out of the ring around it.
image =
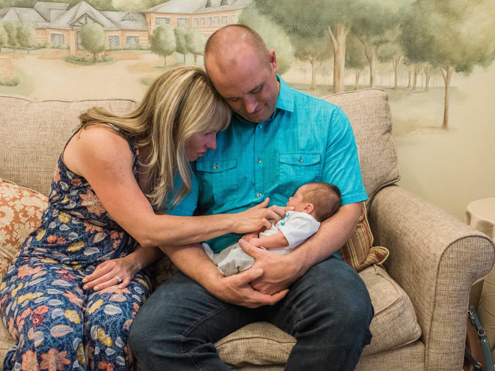
[[[139,183],[139,153],[129,147]],[[3,370],[132,370],[128,331],[150,294],[148,276],[139,272],[124,289],[97,292],[83,290],[82,278],[135,248],[61,154],[49,206],[0,286],[0,315],[17,343]]]

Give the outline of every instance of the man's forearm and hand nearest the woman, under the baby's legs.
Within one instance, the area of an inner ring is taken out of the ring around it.
[[[249,282],[263,275],[263,269],[260,268],[250,268],[229,277],[223,276],[198,243],[160,248],[185,275],[225,302],[256,308],[273,305],[289,292],[288,289],[282,289],[269,295],[253,289]]]

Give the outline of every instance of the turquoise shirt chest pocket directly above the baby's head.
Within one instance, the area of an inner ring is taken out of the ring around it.
[[[279,184],[289,193],[320,179],[320,153],[280,152]]]

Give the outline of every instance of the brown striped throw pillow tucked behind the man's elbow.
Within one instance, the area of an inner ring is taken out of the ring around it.
[[[382,264],[389,257],[389,250],[381,246],[373,246],[373,234],[366,217],[366,206],[361,202],[361,215],[357,222],[356,232],[338,251],[342,260],[360,272],[372,264]]]

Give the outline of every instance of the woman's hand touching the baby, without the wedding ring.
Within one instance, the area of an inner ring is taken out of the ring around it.
[[[281,207],[277,205],[268,206],[270,199],[267,197],[259,205],[253,206],[241,213],[232,214],[234,218],[234,233],[247,233],[257,231],[262,227],[271,228],[269,219],[276,222],[285,216],[286,211],[294,210],[294,206]]]

